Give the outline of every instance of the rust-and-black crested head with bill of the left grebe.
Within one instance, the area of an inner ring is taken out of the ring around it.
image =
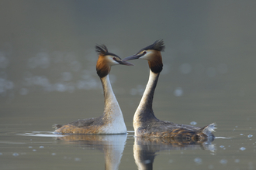
[[[105,45],[96,45],[95,49],[96,52],[99,54],[99,59],[96,64],[96,70],[101,78],[109,74],[111,66],[119,64],[133,66],[132,63],[126,62],[116,54],[109,53]]]

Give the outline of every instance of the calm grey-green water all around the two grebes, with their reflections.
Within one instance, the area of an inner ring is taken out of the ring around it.
[[[256,169],[256,3],[1,1],[1,169]],[[121,58],[164,39],[154,96],[161,120],[217,124],[201,145],[133,137],[147,62],[113,66],[129,132],[56,136],[53,124],[98,117],[94,46]]]

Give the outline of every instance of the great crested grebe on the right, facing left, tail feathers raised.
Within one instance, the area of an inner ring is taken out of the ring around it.
[[[154,116],[152,109],[154,90],[157,87],[157,80],[163,68],[161,51],[164,51],[164,41],[157,40],[152,45],[140,49],[133,56],[123,60],[147,59],[150,67],[150,76],[143,97],[133,117],[133,128],[136,137],[157,137],[157,138],[182,138],[193,141],[206,141],[213,139],[212,131],[215,124],[209,124],[203,128],[191,125],[174,124],[170,121],[161,121]]]

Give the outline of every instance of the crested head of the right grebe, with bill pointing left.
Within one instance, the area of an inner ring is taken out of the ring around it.
[[[123,60],[147,59],[150,70],[160,73],[163,69],[161,51],[164,51],[164,40],[157,40],[150,46],[146,46],[133,56],[128,56]]]

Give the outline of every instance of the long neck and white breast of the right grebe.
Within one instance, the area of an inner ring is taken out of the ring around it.
[[[137,110],[133,117],[133,128],[135,131],[135,136],[137,132],[137,128],[143,126],[144,123],[151,119],[157,119],[154,116],[154,112],[152,109],[154,90],[157,87],[159,73],[153,73],[150,70],[149,80],[147,82],[147,87],[144,91],[144,94],[140,100],[140,104],[137,107]]]

